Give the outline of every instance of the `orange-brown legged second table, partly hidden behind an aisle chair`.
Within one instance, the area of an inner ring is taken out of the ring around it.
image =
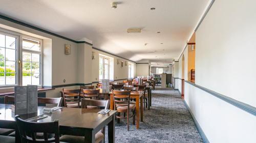
[[[105,96],[108,96],[108,98],[106,99],[110,99],[110,109],[114,110],[114,100],[111,96],[112,92],[102,92],[102,89],[100,89],[99,94],[104,94]],[[139,129],[140,121],[143,122],[143,92],[131,91],[130,97],[136,100],[136,129]]]

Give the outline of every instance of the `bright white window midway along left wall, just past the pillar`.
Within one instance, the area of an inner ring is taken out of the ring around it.
[[[109,79],[110,59],[104,56],[99,56],[99,79]]]

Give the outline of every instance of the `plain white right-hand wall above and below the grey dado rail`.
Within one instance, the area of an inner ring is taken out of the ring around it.
[[[256,106],[256,1],[215,1],[196,32],[196,84]],[[185,55],[185,80],[187,80]],[[179,77],[181,77],[179,59]],[[181,82],[179,83],[181,88]],[[250,113],[185,82],[185,102],[209,142],[255,142]]]

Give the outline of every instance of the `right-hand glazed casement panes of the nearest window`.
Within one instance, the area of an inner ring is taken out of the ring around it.
[[[22,84],[40,85],[41,41],[23,38],[22,50]]]

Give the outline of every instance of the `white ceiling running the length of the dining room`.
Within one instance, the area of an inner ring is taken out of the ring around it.
[[[96,48],[132,61],[171,62],[181,53],[208,1],[124,0],[112,9],[114,1],[109,0],[1,0],[0,13],[70,39],[87,39]],[[142,31],[127,34],[127,28]],[[147,52],[152,50],[156,52]]]

